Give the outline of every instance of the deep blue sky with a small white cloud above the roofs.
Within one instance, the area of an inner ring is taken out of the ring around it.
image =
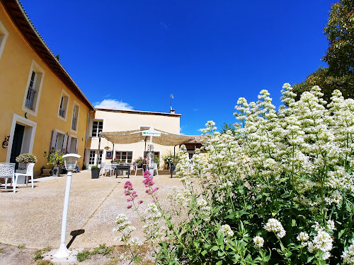
[[[326,66],[333,2],[21,1],[93,105],[169,112],[173,94],[183,134],[236,122],[262,89],[278,107],[283,83]]]

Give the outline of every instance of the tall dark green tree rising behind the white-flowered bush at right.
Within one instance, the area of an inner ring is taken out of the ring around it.
[[[329,101],[333,90],[342,91],[344,98],[354,98],[354,0],[341,0],[331,6],[324,28],[329,47],[323,60],[329,68],[319,68],[306,81],[295,84],[297,97],[312,86],[319,86],[324,100]]]

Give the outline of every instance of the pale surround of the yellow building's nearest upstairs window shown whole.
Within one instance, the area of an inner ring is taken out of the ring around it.
[[[34,84],[34,90],[36,93],[35,93],[35,100],[33,102],[33,110],[30,110],[28,107],[25,107],[25,100],[27,98],[28,87],[30,86],[30,78],[32,77],[33,71],[35,71],[37,75]],[[42,67],[40,67],[39,64],[35,62],[35,60],[32,60],[32,63],[30,64],[30,73],[28,74],[28,80],[25,86],[25,95],[23,95],[22,110],[24,112],[28,112],[29,114],[35,117],[37,117],[38,114],[38,105],[40,103],[40,93],[42,92],[42,84],[44,78],[45,78],[45,71],[42,69]]]

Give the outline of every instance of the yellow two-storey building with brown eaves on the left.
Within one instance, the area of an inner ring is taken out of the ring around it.
[[[0,1],[0,91],[0,162],[33,153],[40,175],[43,153],[61,149],[83,163],[93,106],[16,0]]]

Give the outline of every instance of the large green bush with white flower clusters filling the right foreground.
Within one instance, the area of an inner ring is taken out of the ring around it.
[[[295,101],[286,83],[278,112],[266,90],[240,98],[236,134],[207,122],[191,172],[181,147],[184,190],[169,211],[152,195],[167,227],[148,237],[159,264],[354,264],[354,100],[322,95]]]

